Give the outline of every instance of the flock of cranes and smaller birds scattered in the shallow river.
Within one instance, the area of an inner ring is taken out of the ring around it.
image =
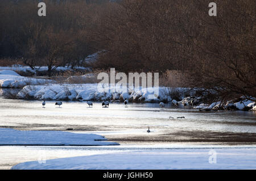
[[[89,101],[89,100],[87,100],[86,101],[86,103],[88,104],[88,106],[89,107],[93,107],[93,102],[91,102],[91,101]],[[123,104],[125,104],[125,107],[127,107],[127,104],[129,103],[129,100],[128,99],[126,99],[124,102],[123,102]],[[172,100],[172,104],[174,104],[176,107],[178,106],[178,103],[177,103],[177,101],[175,100],[175,99],[173,99]],[[191,101],[191,104],[193,104],[192,103],[192,101]],[[46,106],[46,100],[44,99],[44,101],[42,102],[42,105],[43,105],[43,108]],[[55,106],[61,106],[62,105],[62,102],[56,102],[55,103]],[[184,104],[184,106],[186,106],[185,104]],[[102,107],[109,107],[109,102],[107,101],[107,100],[104,100],[103,102],[102,102]],[[163,110],[163,108],[164,108],[164,103],[163,102],[160,102],[159,103],[159,107],[160,107],[160,109],[161,110]],[[174,117],[169,117],[170,119],[171,118],[174,118]],[[177,119],[183,119],[183,118],[185,118],[184,116],[183,117],[177,117]],[[150,133],[151,131],[150,131],[150,127],[148,127],[148,130],[147,130],[147,133]]]

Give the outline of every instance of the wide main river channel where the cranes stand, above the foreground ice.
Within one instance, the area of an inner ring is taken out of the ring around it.
[[[24,131],[68,131],[100,134],[121,144],[157,142],[200,142],[204,144],[256,143],[255,113],[245,111],[201,112],[158,103],[101,103],[90,107],[85,102],[69,101],[55,106],[40,100],[0,100],[0,126]],[[170,119],[172,116],[174,119]],[[176,117],[185,117],[177,119]],[[150,127],[151,133],[146,131]],[[247,142],[246,142],[247,141]]]

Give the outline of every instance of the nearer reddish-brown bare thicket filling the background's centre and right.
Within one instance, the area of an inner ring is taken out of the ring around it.
[[[181,70],[205,102],[255,97],[255,1],[216,3],[212,17],[203,0],[123,0],[101,19],[96,37],[108,54],[99,66]]]

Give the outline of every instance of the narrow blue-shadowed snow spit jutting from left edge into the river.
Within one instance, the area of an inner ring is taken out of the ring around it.
[[[119,145],[98,134],[61,131],[18,131],[0,128],[0,145]]]

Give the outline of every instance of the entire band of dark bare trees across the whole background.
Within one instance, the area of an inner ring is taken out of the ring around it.
[[[0,2],[1,58],[47,65],[51,75],[105,50],[95,68],[177,70],[208,99],[256,96],[254,0],[216,0],[217,16],[205,0],[44,2],[46,17],[38,1]]]

